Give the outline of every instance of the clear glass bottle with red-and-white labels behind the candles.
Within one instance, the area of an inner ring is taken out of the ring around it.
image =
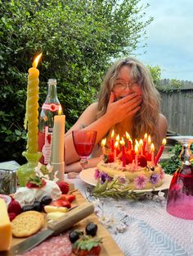
[[[38,122],[38,151],[43,154],[39,162],[45,165],[50,160],[54,116],[58,115],[61,105],[57,98],[56,79],[49,79],[47,84],[47,98],[43,103]]]

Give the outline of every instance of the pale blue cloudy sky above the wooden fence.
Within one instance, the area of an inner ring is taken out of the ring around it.
[[[137,54],[144,64],[159,65],[162,78],[193,81],[193,1],[141,0],[150,3],[146,16],[146,53]]]

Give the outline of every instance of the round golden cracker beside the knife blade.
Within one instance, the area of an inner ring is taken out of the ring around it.
[[[44,217],[42,213],[28,211],[17,215],[11,224],[12,235],[16,237],[27,237],[34,235],[43,227]]]

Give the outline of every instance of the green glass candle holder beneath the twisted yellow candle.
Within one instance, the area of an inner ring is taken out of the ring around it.
[[[28,153],[28,151],[24,151],[22,155],[27,159],[28,162],[18,168],[16,174],[19,185],[25,186],[26,182],[29,180],[29,177],[35,176],[35,167],[38,166],[38,161],[42,157],[42,153]]]

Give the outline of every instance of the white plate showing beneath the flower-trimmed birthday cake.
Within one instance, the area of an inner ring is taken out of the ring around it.
[[[82,181],[88,183],[89,185],[96,185],[97,181],[95,180],[94,177],[94,173],[95,173],[96,168],[88,168],[85,169],[83,171],[81,171],[79,173],[79,177],[81,178]],[[165,174],[164,176],[164,182],[162,185],[160,185],[159,187],[155,188],[155,191],[159,191],[159,190],[168,190],[170,182],[172,180],[171,175]],[[134,190],[135,192],[147,192],[147,191],[151,191],[150,190]]]

